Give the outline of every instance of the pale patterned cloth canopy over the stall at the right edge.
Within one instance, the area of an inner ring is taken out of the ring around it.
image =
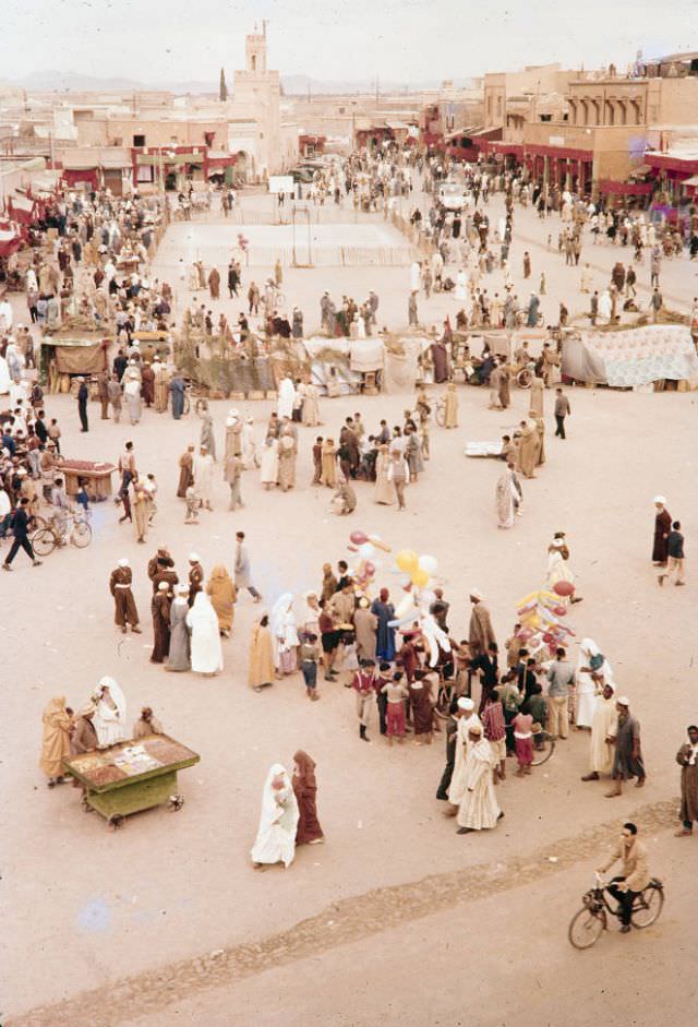
[[[698,357],[683,325],[582,332],[565,339],[563,374],[578,382],[633,389],[671,379],[698,385]]]

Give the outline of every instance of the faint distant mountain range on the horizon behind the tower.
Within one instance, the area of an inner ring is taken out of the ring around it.
[[[170,93],[210,93],[218,95],[218,74],[210,82],[201,82],[197,80],[182,82],[142,82],[136,79],[121,76],[98,77],[94,75],[81,75],[72,71],[35,71],[23,79],[15,79],[8,85],[19,86],[29,93],[52,93],[52,92],[73,92],[73,93],[124,93],[133,91],[165,89]],[[467,87],[471,84],[470,79],[455,79],[454,85]],[[352,94],[352,93],[375,93],[375,79],[351,81],[322,82],[310,79],[308,75],[282,75],[281,85],[287,96],[305,96],[309,91],[311,95],[321,93]],[[423,89],[435,89],[441,85],[440,81],[406,83],[380,82],[381,93],[419,93]],[[230,76],[230,89],[232,89],[232,75]]]

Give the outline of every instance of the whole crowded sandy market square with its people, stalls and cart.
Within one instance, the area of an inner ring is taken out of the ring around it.
[[[595,993],[594,874],[681,980],[698,207],[413,138],[172,184],[8,214],[2,1016],[459,1023],[389,946],[588,1023],[485,967]]]

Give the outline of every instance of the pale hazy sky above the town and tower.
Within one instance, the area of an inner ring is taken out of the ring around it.
[[[269,22],[269,67],[399,83],[561,61],[625,68],[698,46],[696,0],[3,0],[0,77],[59,70],[153,83],[229,80]],[[691,38],[693,36],[693,38]]]

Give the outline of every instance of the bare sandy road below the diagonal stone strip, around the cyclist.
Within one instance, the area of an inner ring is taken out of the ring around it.
[[[698,927],[695,918],[685,921],[682,909],[693,870],[675,844],[661,838],[657,848],[671,879],[660,920],[628,935],[610,923],[590,951],[576,951],[566,938],[577,900],[590,886],[588,868],[579,868],[174,1002],[168,1023],[661,1027],[682,1020],[696,1000]],[[155,1014],[123,1027],[163,1023]]]

